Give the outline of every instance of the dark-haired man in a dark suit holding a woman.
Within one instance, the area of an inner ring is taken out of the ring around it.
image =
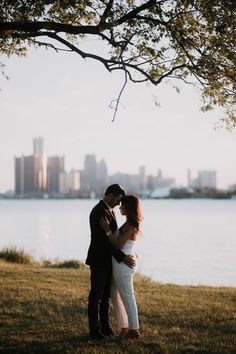
[[[112,184],[105,191],[102,200],[92,209],[89,217],[91,229],[91,243],[88,249],[86,264],[91,271],[91,289],[88,301],[88,319],[90,337],[102,340],[105,336],[113,335],[109,323],[110,285],[112,276],[112,259],[123,261],[129,267],[135,265],[134,259],[120,250],[115,250],[109,242],[106,233],[100,224],[101,217],[106,217],[110,229],[117,229],[117,222],[113,208],[120,204],[125,195],[119,184]]]

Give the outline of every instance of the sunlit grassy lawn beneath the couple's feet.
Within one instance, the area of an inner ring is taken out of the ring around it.
[[[135,276],[141,337],[88,337],[89,269],[0,260],[0,353],[234,353],[236,289],[162,285]],[[111,312],[111,320],[116,328]]]

